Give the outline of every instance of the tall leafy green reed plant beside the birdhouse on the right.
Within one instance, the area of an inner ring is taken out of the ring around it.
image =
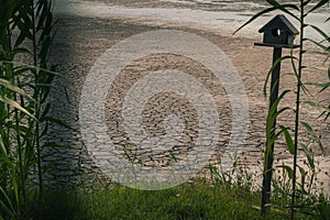
[[[310,188],[306,188],[306,185],[311,186],[315,175],[316,175],[315,164],[314,164],[314,155],[310,153],[308,147],[302,142],[299,142],[299,130],[301,127],[310,135],[310,139],[314,140],[319,145],[320,150],[323,152],[322,142],[319,139],[319,136],[316,134],[316,132],[314,131],[312,127],[308,122],[301,121],[301,119],[300,119],[301,92],[307,92],[307,94],[309,92],[307,85],[320,87],[320,92],[324,91],[326,89],[329,89],[329,86],[330,86],[330,66],[328,66],[328,70],[327,70],[328,79],[329,79],[328,81],[326,81],[326,82],[308,82],[308,84],[302,82],[302,74],[305,70],[307,70],[307,66],[305,65],[305,62],[304,62],[304,55],[307,53],[307,51],[305,48],[307,42],[311,42],[312,44],[315,44],[318,47],[318,50],[315,53],[324,56],[324,64],[330,57],[330,46],[329,46],[330,36],[327,33],[324,33],[321,29],[317,28],[316,25],[308,24],[306,22],[306,19],[311,13],[319,10],[320,8],[326,7],[327,3],[329,2],[329,0],[318,0],[317,2],[311,1],[311,0],[300,0],[298,3],[280,3],[276,0],[266,0],[266,2],[270,4],[270,8],[253,15],[239,30],[241,30],[249,23],[253,22],[255,19],[260,18],[261,15],[268,13],[271,11],[280,11],[280,12],[287,14],[288,16],[290,16],[293,20],[298,21],[298,23],[299,23],[299,32],[300,33],[299,33],[299,42],[298,42],[298,46],[299,46],[298,47],[298,56],[294,55],[294,48],[292,45],[290,55],[286,56],[286,57],[280,57],[277,62],[275,62],[275,64],[273,65],[273,67],[271,68],[270,73],[268,73],[268,75],[270,75],[272,73],[272,69],[274,69],[275,66],[279,62],[285,61],[285,59],[290,61],[293,75],[296,77],[296,89],[292,90],[292,91],[284,91],[278,97],[278,99],[271,107],[271,109],[268,111],[268,116],[267,116],[267,121],[266,121],[267,124],[273,124],[274,121],[276,121],[276,119],[278,117],[280,117],[279,114],[282,112],[292,110],[295,113],[295,121],[294,121],[295,125],[294,125],[294,128],[289,128],[289,127],[284,127],[284,125],[279,124],[276,128],[278,131],[277,133],[274,132],[272,127],[267,125],[266,127],[267,144],[266,144],[266,151],[265,151],[265,163],[266,163],[267,157],[271,156],[268,154],[270,145],[272,143],[274,143],[276,140],[278,140],[278,138],[282,134],[284,135],[288,151],[293,155],[294,165],[293,165],[293,167],[287,166],[287,165],[283,165],[280,167],[286,170],[285,174],[288,176],[289,183],[292,184],[288,189],[289,190],[288,193],[292,198],[292,205],[290,205],[292,216],[290,216],[290,218],[294,219],[295,210],[302,206],[306,197],[311,197]],[[330,20],[330,18],[328,18],[324,22],[328,22],[329,20]],[[305,31],[307,28],[312,29],[314,31],[319,33],[319,35],[322,37],[322,41],[316,41],[312,38],[305,37]],[[265,85],[267,85],[268,78],[270,77],[267,77]],[[296,101],[295,101],[296,107],[294,109],[286,107],[286,108],[279,109],[277,111],[276,109],[277,109],[279,102],[286,96],[286,94],[289,94],[289,92],[293,92],[296,97]],[[272,95],[272,92],[271,92],[271,95]],[[265,92],[265,96],[266,96],[266,92]],[[322,109],[323,110],[322,114],[326,116],[326,119],[329,117],[329,113],[330,113],[330,109],[329,109],[330,105],[329,103],[315,102],[315,101],[305,101],[304,103]],[[301,148],[301,151],[305,153],[305,155],[308,160],[308,166],[311,170],[311,177],[309,178],[310,183],[306,183],[308,170],[305,170],[301,166],[299,166],[297,164],[298,147]],[[298,170],[300,172],[301,184],[297,183],[297,172]],[[264,173],[267,173],[267,172],[272,172],[272,169],[264,170]],[[324,204],[328,206],[328,209],[329,209],[329,201],[324,201]],[[268,205],[263,204],[262,207],[264,207],[264,206],[268,206]]]

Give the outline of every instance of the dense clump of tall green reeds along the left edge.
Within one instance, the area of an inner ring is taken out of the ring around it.
[[[0,1],[0,219],[28,213],[32,173],[43,195],[42,142],[55,73],[50,0]]]

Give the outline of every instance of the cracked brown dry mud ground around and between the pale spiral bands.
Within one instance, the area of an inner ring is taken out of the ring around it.
[[[79,100],[87,74],[97,58],[116,43],[138,33],[166,29],[166,26],[147,26],[121,20],[68,14],[57,14],[57,18],[59,18],[59,21],[56,24],[57,33],[54,41],[52,62],[58,64],[58,72],[65,78],[59,78],[55,81],[51,94],[52,113],[54,117],[72,124],[77,131],[68,131],[52,124],[47,139],[48,141],[61,143],[63,147],[44,150],[46,155],[44,161],[50,165],[46,179],[51,186],[72,187],[85,180],[95,180],[97,179],[95,176],[100,175],[100,170],[88,156],[79,131]],[[272,50],[254,46],[253,43],[260,41],[256,38],[220,36],[188,29],[184,31],[198,34],[219,46],[231,59],[241,76],[249,98],[250,122],[245,146],[238,155],[238,163],[246,167],[252,167],[250,170],[258,173],[263,164],[263,148],[265,145],[264,128],[267,111],[267,102],[263,96],[263,85],[271,66]],[[284,51],[284,54],[288,54],[288,51]],[[307,55],[306,62],[316,65],[322,63],[320,57],[315,55]],[[231,107],[224,88],[221,86],[221,82],[213,79],[212,73],[205,66],[189,58],[173,54],[141,57],[128,65],[122,70],[121,77],[114,81],[112,85],[113,89],[108,94],[106,103],[108,134],[113,140],[113,143],[118,144],[118,148],[123,154],[125,144],[130,143],[123,129],[121,117],[122,99],[128,89],[139,78],[147,75],[150,72],[166,68],[189,73],[194,77],[199,78],[209,89],[218,106],[219,119],[221,121],[217,152],[218,154],[223,153],[231,132]],[[282,73],[287,73],[289,63],[284,62],[282,69]],[[321,75],[306,75],[304,80],[321,80]],[[280,90],[294,89],[294,77],[283,74]],[[69,100],[66,100],[63,88],[66,88]],[[316,90],[311,89],[311,91],[316,94]],[[308,98],[307,96],[304,97],[304,99]],[[316,98],[318,100],[329,100],[329,94],[318,95]],[[91,106],[92,101],[90,100]],[[290,107],[294,107],[294,97],[288,96],[284,100],[283,106],[290,105]],[[189,153],[189,143],[198,135],[196,111],[189,100],[174,94],[160,94],[160,96],[153,97],[145,106],[143,123],[145,130],[151,135],[162,136],[166,133],[163,119],[170,113],[178,116],[185,122],[179,144],[173,147],[173,152],[179,158]],[[320,157],[318,166],[322,169],[321,175],[327,179],[328,177],[324,173],[329,172],[330,128],[329,121],[322,122],[321,119],[318,119],[319,113],[319,111],[308,106],[302,106],[301,119],[310,121],[318,134],[323,138],[327,156]],[[278,120],[278,123],[293,125],[293,113],[286,113]],[[300,138],[311,148],[317,150],[316,144],[310,142],[306,133],[302,132]],[[143,148],[134,148],[133,143],[130,143],[130,145],[132,145],[130,148],[131,154],[135,152],[138,155],[135,163],[143,163],[145,166],[166,166],[175,163],[173,155],[169,155],[168,152],[158,154]],[[275,153],[275,160],[289,157],[289,153],[284,145],[284,140],[280,140],[276,144]],[[216,163],[215,160],[211,163]],[[327,188],[327,186],[324,187]]]

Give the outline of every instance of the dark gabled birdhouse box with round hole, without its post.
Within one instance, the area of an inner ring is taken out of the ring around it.
[[[293,45],[295,35],[299,33],[283,14],[276,15],[258,32],[264,33],[263,44],[270,46],[282,45],[283,47]]]

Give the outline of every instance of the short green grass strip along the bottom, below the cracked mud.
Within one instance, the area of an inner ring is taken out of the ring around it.
[[[277,201],[273,201],[274,205]],[[283,205],[283,199],[278,204]],[[47,191],[32,219],[288,219],[288,209],[261,216],[260,193],[228,184],[193,184],[146,191],[114,185],[84,191]],[[287,199],[287,206],[289,199]],[[329,205],[329,204],[328,204]],[[328,207],[329,208],[329,207]],[[297,219],[314,219],[298,212]]]

